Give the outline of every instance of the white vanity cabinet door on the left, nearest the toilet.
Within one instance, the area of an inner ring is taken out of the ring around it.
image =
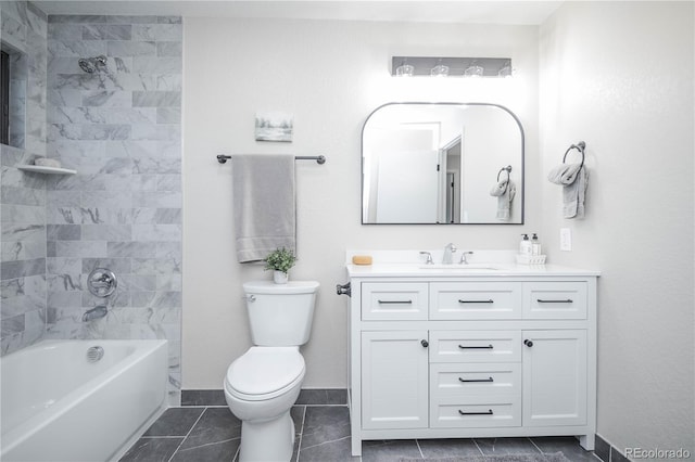
[[[362,427],[427,428],[427,331],[362,333]]]

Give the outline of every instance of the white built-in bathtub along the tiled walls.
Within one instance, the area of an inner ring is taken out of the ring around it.
[[[108,461],[166,407],[166,341],[46,341],[1,358],[0,381],[0,460]]]

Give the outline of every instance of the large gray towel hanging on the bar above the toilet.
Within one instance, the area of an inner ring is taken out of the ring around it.
[[[232,202],[237,260],[263,260],[296,248],[294,156],[233,155]]]

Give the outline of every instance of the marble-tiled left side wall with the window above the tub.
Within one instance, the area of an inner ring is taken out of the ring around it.
[[[46,155],[47,17],[25,1],[0,2],[10,54],[10,144],[0,145],[0,352],[46,333],[46,178],[16,167]]]

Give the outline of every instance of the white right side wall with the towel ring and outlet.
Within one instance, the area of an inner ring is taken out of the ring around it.
[[[598,434],[695,453],[693,2],[569,2],[541,27],[542,170],[586,142],[586,218],[543,182],[554,262],[602,270]],[[573,252],[559,252],[559,228]]]

